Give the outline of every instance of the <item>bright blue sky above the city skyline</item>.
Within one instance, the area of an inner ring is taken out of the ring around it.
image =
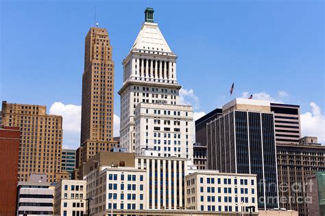
[[[147,0],[1,1],[0,99],[47,105],[48,111],[54,102],[80,105],[84,37],[96,7],[113,47],[119,116],[121,62],[146,6]],[[185,100],[197,104],[195,112],[254,94],[301,105],[302,114],[320,117],[317,133],[325,133],[324,1],[151,0],[149,6],[178,55],[178,81]],[[79,145],[72,142],[67,146]]]

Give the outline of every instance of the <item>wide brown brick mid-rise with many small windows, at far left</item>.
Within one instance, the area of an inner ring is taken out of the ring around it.
[[[55,182],[61,172],[62,116],[48,115],[46,106],[2,102],[4,126],[21,129],[18,180],[46,173]]]

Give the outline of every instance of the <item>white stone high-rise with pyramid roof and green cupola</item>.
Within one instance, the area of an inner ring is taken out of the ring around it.
[[[154,10],[123,60],[121,146],[128,152],[162,157],[193,157],[193,110],[179,105],[181,85],[176,79],[177,56],[169,48]],[[156,152],[156,153],[155,153]]]

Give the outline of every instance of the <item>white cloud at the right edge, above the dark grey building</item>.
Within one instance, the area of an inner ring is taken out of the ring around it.
[[[300,115],[302,136],[318,137],[318,142],[325,144],[325,116],[320,107],[311,102],[311,112]]]

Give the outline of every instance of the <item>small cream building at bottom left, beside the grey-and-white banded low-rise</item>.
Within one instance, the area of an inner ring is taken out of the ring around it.
[[[86,212],[86,181],[62,179],[54,193],[54,215],[83,216]]]

